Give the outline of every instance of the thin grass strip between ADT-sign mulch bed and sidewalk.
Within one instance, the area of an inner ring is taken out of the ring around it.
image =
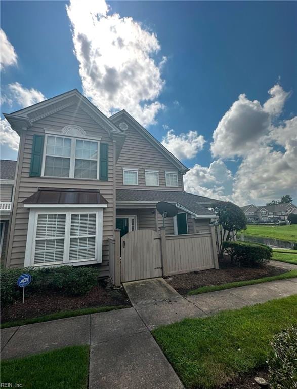
[[[0,328],[9,328],[9,327],[15,327],[15,326],[23,326],[24,324],[48,322],[50,320],[65,319],[65,318],[72,318],[74,316],[96,314],[98,312],[107,312],[108,310],[122,309],[122,308],[126,308],[126,306],[124,306],[124,305],[99,306],[97,308],[82,308],[82,309],[76,309],[76,310],[65,310],[63,312],[57,312],[55,314],[39,316],[37,318],[21,319],[21,320],[16,320],[13,322],[2,323],[0,325]]]

